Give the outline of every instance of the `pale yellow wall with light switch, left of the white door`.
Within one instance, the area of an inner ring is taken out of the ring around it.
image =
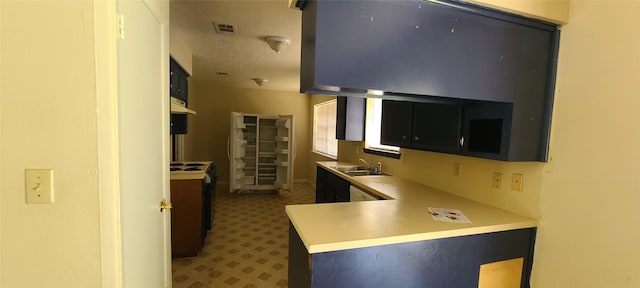
[[[0,286],[100,287],[93,1],[0,7]],[[25,203],[27,168],[55,203]]]

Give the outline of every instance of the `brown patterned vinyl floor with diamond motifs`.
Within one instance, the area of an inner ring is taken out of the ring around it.
[[[173,287],[287,287],[289,219],[284,206],[313,203],[315,191],[230,194],[217,187],[213,229],[200,255],[173,260]]]

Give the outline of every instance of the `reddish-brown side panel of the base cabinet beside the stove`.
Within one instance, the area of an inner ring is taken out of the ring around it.
[[[194,257],[203,245],[202,179],[171,180],[171,255]]]

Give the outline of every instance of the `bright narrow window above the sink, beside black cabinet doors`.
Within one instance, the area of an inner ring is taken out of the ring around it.
[[[367,117],[365,122],[365,152],[400,157],[400,147],[380,144],[380,127],[382,122],[382,99],[367,98]]]

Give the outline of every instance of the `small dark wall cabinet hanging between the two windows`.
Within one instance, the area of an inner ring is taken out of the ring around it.
[[[336,99],[336,139],[364,141],[367,99],[344,96],[338,96]]]

